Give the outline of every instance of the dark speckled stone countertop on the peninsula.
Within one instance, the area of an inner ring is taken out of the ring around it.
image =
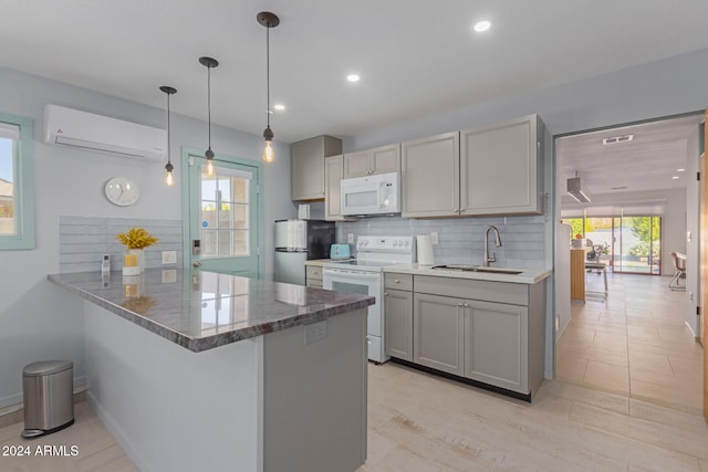
[[[195,353],[374,304],[366,295],[180,269],[48,280]]]

